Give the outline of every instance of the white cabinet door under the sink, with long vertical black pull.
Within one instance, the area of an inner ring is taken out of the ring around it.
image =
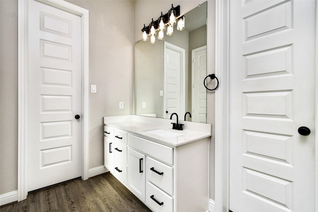
[[[128,188],[141,201],[146,201],[146,156],[128,148]]]

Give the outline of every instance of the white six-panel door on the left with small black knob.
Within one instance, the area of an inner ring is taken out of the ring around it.
[[[28,23],[32,191],[81,176],[81,18],[30,0]]]

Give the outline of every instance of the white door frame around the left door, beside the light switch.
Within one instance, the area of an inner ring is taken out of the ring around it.
[[[82,126],[81,126],[81,178],[88,179],[88,97],[89,97],[89,12],[64,0],[37,0],[55,8],[79,15],[82,29]],[[27,197],[28,170],[28,0],[18,0],[18,201]]]

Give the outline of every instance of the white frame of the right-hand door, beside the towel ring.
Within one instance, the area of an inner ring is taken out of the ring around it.
[[[230,203],[229,185],[229,97],[230,97],[230,0],[215,1],[216,6],[216,48],[215,72],[220,86],[215,91],[215,211],[228,212]],[[318,2],[316,1],[316,20],[318,20]],[[318,160],[318,21],[316,21],[316,85],[315,85],[315,160]],[[316,210],[318,209],[318,162],[316,173]]]

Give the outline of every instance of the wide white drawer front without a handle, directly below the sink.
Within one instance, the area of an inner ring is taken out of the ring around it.
[[[173,148],[154,141],[128,135],[129,146],[173,165]]]

